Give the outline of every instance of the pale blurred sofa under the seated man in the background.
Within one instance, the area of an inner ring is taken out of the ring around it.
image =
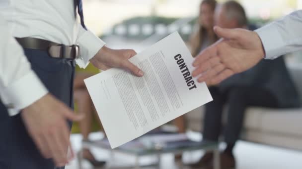
[[[289,71],[302,98],[302,66],[289,66]],[[203,109],[185,115],[188,129],[202,129]],[[302,150],[302,108],[250,107],[245,113],[242,140]]]

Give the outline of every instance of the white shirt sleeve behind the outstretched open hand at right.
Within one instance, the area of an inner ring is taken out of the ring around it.
[[[302,10],[255,30],[259,35],[266,59],[302,49]]]

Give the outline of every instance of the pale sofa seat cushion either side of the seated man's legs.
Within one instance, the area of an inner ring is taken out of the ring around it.
[[[195,109],[186,114],[187,127],[202,129],[204,108]],[[270,109],[250,107],[246,110],[244,128],[276,134],[302,136],[302,109]]]

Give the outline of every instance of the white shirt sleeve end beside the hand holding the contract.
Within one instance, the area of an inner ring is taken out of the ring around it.
[[[89,60],[105,45],[105,42],[95,36],[91,31],[85,30],[80,24],[78,24],[78,28],[76,43],[80,48],[80,57],[75,61],[80,68],[86,68]]]

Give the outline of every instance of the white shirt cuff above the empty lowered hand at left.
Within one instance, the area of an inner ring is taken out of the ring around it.
[[[9,116],[14,116],[23,108],[31,105],[48,93],[37,75],[30,73],[5,88],[5,94],[9,99],[7,109]]]

